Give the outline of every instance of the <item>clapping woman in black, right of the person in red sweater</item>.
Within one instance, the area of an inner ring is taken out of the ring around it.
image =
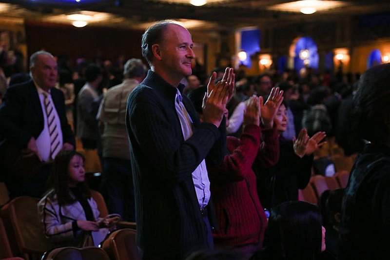
[[[280,159],[271,168],[256,163],[253,166],[260,202],[268,209],[284,201],[298,200],[298,189],[305,188],[310,180],[312,153],[322,145],[319,142],[326,136],[325,132],[318,132],[309,138],[306,129],[302,129],[296,140],[286,140],[280,135],[288,124],[284,103],[280,105],[274,122],[279,133]]]

